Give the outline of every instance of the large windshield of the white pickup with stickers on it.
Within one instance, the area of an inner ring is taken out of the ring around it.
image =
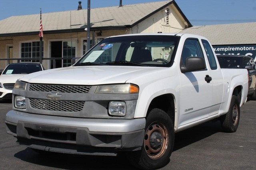
[[[134,65],[168,67],[179,37],[162,35],[106,38],[75,65]]]

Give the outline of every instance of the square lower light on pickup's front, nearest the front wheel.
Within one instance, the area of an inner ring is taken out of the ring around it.
[[[111,116],[125,116],[126,104],[123,101],[110,101],[108,103],[108,113]]]

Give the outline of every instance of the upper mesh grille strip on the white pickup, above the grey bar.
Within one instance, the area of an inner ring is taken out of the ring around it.
[[[57,91],[61,93],[89,93],[91,86],[81,85],[48,85],[48,84],[30,84],[30,91]]]

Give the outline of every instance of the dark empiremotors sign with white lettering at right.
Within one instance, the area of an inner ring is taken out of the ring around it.
[[[212,45],[216,55],[247,55],[256,61],[256,44],[251,45]]]

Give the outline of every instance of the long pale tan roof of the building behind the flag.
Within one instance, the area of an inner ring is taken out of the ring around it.
[[[132,26],[146,16],[174,2],[173,0],[150,2],[143,4],[113,6],[90,9],[91,28],[108,26]],[[38,32],[40,14],[12,16],[0,20],[0,35]],[[87,27],[87,9],[52,12],[42,14],[43,30],[70,30]]]

